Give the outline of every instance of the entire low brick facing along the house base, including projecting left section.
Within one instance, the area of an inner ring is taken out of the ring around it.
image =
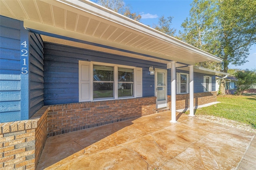
[[[216,92],[195,93],[194,105],[217,101]],[[0,123],[0,169],[36,169],[48,136],[97,127],[145,115],[156,110],[156,97],[51,105],[30,120]],[[176,95],[176,109],[189,107],[189,94]]]

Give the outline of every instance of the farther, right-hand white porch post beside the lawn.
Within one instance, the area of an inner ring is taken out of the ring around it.
[[[194,66],[189,65],[189,116],[194,116]]]

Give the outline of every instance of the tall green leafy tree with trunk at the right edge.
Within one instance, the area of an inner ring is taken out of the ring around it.
[[[220,0],[218,20],[220,29],[220,57],[223,71],[228,65],[247,62],[249,49],[256,43],[256,0]]]

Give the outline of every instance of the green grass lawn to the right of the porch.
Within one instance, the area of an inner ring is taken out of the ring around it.
[[[217,96],[217,105],[196,110],[196,115],[224,117],[256,128],[256,94]]]

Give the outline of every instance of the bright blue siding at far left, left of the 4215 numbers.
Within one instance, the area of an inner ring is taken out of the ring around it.
[[[0,16],[0,123],[20,120],[20,28]]]

